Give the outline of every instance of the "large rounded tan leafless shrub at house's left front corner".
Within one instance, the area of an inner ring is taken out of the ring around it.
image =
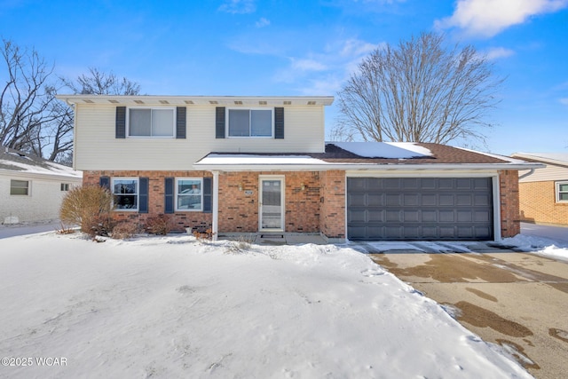
[[[63,198],[59,218],[67,225],[81,225],[81,231],[91,236],[105,235],[97,233],[110,230],[112,203],[113,195],[106,188],[75,187]]]

